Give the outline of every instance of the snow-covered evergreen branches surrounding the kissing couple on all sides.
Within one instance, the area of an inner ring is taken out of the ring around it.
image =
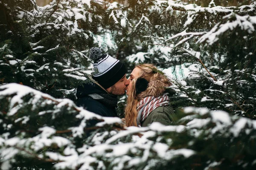
[[[255,168],[254,0],[1,0],[0,9],[2,169]],[[129,72],[147,62],[169,75],[177,125],[124,128],[76,107],[94,46]]]

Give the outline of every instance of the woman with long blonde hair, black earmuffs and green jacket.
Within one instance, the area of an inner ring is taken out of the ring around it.
[[[152,64],[137,65],[130,75],[125,107],[126,126],[145,127],[152,122],[170,125],[175,113],[169,104],[166,87],[170,80]]]

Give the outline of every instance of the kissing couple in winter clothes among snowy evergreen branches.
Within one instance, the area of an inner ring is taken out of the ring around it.
[[[124,63],[102,54],[100,48],[91,48],[89,57],[94,61],[95,71],[92,81],[78,86],[76,105],[101,116],[118,117],[118,96],[126,92],[126,126],[145,127],[153,122],[171,125],[175,122],[167,93],[172,83],[154,65],[136,65],[127,79]]]

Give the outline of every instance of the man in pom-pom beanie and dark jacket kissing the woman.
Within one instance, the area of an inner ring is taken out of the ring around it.
[[[89,57],[94,61],[96,71],[93,82],[83,83],[77,88],[76,105],[101,116],[118,117],[115,108],[117,96],[124,95],[129,85],[125,65],[95,47],[90,49]]]

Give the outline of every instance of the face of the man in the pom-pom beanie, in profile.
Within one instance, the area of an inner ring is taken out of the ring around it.
[[[127,89],[127,86],[129,85],[129,80],[125,77],[126,74],[120,79],[116,84],[112,85],[110,88],[107,88],[106,90],[110,94],[119,95],[122,96],[125,94],[125,90]]]

